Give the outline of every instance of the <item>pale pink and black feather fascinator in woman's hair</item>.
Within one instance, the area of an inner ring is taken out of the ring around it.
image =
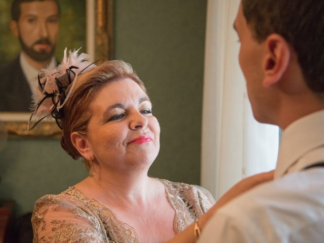
[[[78,51],[69,51],[66,48],[60,65],[50,65],[41,69],[38,74],[38,87],[34,93],[31,106],[31,115],[28,121],[28,130],[33,129],[39,121],[52,116],[60,129],[60,119],[64,116],[63,106],[73,92],[77,76],[96,67],[89,62],[89,55]],[[68,90],[68,92],[67,92]]]

